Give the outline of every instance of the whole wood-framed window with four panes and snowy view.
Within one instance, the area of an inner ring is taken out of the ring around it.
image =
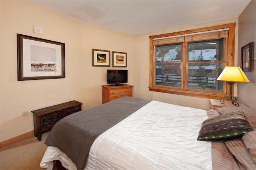
[[[234,65],[235,23],[150,36],[150,91],[219,98],[228,85],[217,81]]]

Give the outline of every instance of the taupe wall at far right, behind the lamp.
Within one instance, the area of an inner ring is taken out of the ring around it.
[[[254,42],[254,58],[256,58],[256,0],[251,0],[238,20],[238,63],[241,61],[241,47]],[[238,83],[238,99],[249,107],[256,107],[256,60],[254,71],[245,71],[250,83]]]

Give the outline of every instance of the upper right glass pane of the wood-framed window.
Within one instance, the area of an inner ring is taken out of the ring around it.
[[[223,61],[223,39],[190,42],[188,61]]]

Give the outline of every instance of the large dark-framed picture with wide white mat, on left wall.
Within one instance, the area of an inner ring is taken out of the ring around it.
[[[65,43],[17,34],[18,81],[65,78]]]

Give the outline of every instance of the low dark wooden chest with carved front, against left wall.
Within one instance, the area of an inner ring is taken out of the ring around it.
[[[41,141],[42,133],[51,130],[60,119],[81,111],[81,106],[78,101],[69,101],[31,111],[34,114],[34,135]]]

